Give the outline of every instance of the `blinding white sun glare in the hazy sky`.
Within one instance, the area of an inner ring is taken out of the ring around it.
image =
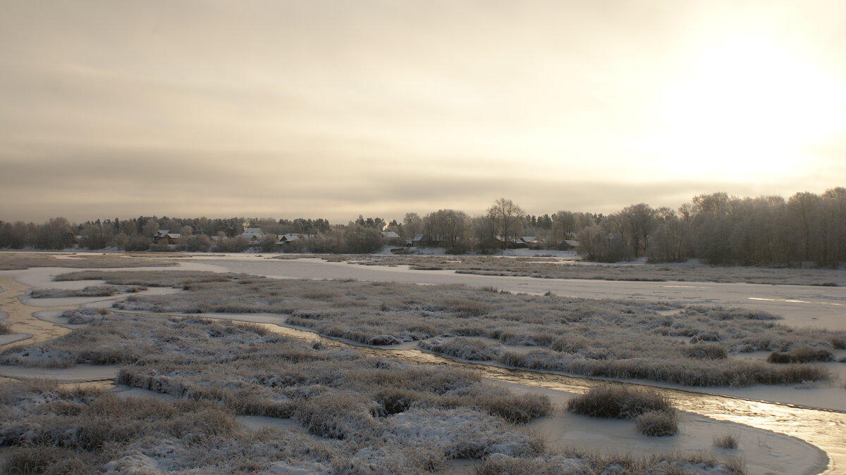
[[[734,35],[694,57],[642,144],[680,176],[784,177],[843,130],[843,85],[765,38]]]

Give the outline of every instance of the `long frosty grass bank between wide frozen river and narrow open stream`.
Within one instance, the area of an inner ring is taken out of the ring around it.
[[[189,292],[136,296],[115,307],[283,314],[291,325],[365,344],[418,341],[423,349],[456,358],[692,386],[827,379],[827,371],[814,366],[744,361],[732,354],[832,348],[846,340],[843,331],[794,329],[777,325],[771,314],[736,308],[530,296],[463,286],[239,277],[184,288]],[[667,310],[675,313],[661,313]]]

